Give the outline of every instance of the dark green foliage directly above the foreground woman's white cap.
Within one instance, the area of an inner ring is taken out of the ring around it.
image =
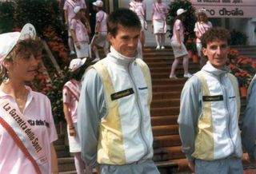
[[[41,36],[42,31],[48,26],[53,26],[58,31],[63,29],[57,0],[14,0],[14,2],[16,2],[15,16],[18,28],[30,22]]]

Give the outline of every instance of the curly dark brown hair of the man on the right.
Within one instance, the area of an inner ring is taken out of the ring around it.
[[[206,31],[206,33],[202,34],[201,42],[202,47],[206,48],[207,43],[214,42],[216,40],[229,42],[230,39],[230,31],[226,30],[222,27],[214,27]]]

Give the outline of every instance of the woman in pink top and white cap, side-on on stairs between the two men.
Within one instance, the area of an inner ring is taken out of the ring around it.
[[[184,45],[184,26],[183,21],[185,20],[186,10],[178,9],[177,17],[174,20],[173,27],[173,37],[170,39],[170,45],[174,50],[174,62],[171,66],[170,78],[177,78],[175,75],[175,69],[178,67],[179,61],[183,58],[183,69],[184,76],[183,77],[191,77],[189,73],[189,57],[186,50],[186,46]]]

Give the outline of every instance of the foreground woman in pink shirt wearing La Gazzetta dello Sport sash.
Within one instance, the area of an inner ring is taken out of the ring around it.
[[[58,173],[50,100],[25,85],[38,73],[41,52],[31,24],[0,34],[0,173]]]

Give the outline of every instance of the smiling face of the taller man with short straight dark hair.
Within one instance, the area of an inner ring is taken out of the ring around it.
[[[134,57],[137,53],[140,29],[118,26],[118,33],[114,37],[108,34],[110,44],[125,57]]]

